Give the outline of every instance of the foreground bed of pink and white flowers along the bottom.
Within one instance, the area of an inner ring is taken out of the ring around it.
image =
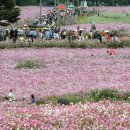
[[[0,130],[129,130],[127,103],[27,106],[3,103]]]

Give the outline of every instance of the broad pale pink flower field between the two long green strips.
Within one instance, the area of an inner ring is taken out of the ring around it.
[[[0,51],[0,89],[10,88],[18,98],[35,93],[37,98],[88,92],[97,88],[130,90],[130,52],[117,49],[16,49]],[[93,55],[93,56],[92,56]],[[35,60],[44,66],[15,69],[21,61]]]

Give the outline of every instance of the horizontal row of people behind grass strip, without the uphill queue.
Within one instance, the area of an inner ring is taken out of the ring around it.
[[[65,40],[69,42],[77,40],[84,41],[86,39],[98,39],[101,43],[128,40],[126,34],[118,34],[117,31],[102,30],[97,31],[91,29],[90,32],[86,32],[83,28],[77,26],[74,30],[61,29],[59,26],[54,26],[48,29],[29,30],[28,26],[24,25],[20,29],[6,30],[5,40],[20,42],[20,43],[33,43],[34,40]]]

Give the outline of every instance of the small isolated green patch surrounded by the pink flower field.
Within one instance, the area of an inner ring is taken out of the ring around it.
[[[41,65],[40,63],[38,63],[38,61],[34,61],[34,60],[26,60],[23,62],[18,63],[18,65],[16,65],[15,69],[36,69],[36,68],[40,68],[45,65]]]

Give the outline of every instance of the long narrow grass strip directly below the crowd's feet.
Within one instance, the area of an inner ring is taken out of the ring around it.
[[[13,43],[1,43],[0,49],[11,49],[11,48],[126,48],[130,47],[130,41],[121,41],[121,42],[109,42],[106,44],[101,44],[99,40],[93,39],[93,40],[85,40],[82,42],[79,41],[71,41],[70,43],[66,41],[36,41],[33,44],[13,44]]]

